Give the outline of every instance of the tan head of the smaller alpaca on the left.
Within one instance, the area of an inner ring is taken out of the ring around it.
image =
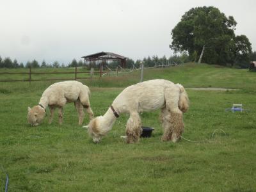
[[[39,125],[44,119],[45,114],[45,109],[40,106],[28,107],[28,123],[32,126]]]

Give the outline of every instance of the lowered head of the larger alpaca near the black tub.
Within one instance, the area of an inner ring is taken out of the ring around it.
[[[102,116],[97,116],[90,121],[90,123],[84,126],[88,129],[89,136],[92,137],[93,143],[99,143],[102,136],[106,134],[106,129],[104,129],[104,122]],[[104,131],[105,130],[105,131]]]

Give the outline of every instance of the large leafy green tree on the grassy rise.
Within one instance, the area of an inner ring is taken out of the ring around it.
[[[201,60],[201,56],[205,63],[234,64],[238,61],[236,42],[240,40],[234,33],[236,24],[234,17],[226,17],[213,6],[191,8],[172,29],[170,48],[175,52],[188,52],[193,61]],[[245,42],[244,36],[242,41]],[[243,44],[246,54],[252,50],[249,41]]]

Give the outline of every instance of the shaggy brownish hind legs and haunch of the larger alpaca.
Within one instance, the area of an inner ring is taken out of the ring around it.
[[[176,142],[184,131],[183,114],[179,109],[180,90],[177,87],[167,88],[164,92],[166,109],[163,113],[163,141]]]

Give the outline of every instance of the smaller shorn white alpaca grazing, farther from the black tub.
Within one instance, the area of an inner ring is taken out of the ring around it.
[[[54,110],[59,109],[59,124],[63,122],[63,106],[68,102],[74,102],[74,105],[79,114],[79,122],[81,125],[84,119],[83,108],[90,116],[90,120],[93,118],[93,112],[90,108],[89,101],[90,90],[88,86],[78,81],[63,81],[54,83],[49,86],[43,93],[37,106],[33,108],[28,107],[28,122],[32,126],[36,126],[42,122],[46,114],[46,108],[49,106],[51,116],[49,118],[49,124],[52,122]]]

